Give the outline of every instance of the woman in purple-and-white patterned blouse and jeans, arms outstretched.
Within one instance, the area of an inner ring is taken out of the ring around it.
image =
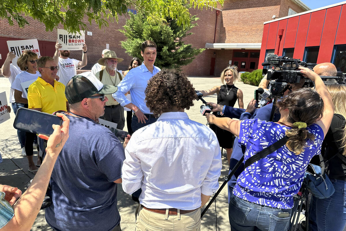
[[[302,88],[279,101],[281,117],[277,123],[259,119],[236,121],[207,114],[209,123],[239,136],[239,143],[245,146],[244,161],[285,135],[288,137],[285,145],[239,175],[229,203],[232,231],[287,230],[293,195],[302,185],[311,158],[321,153],[333,118],[333,101],[316,73],[299,69],[315,83],[316,91]]]

